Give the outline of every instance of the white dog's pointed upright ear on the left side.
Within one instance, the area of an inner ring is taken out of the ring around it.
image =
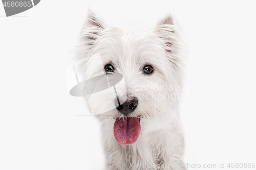
[[[89,10],[88,18],[81,31],[81,38],[88,42],[88,45],[93,45],[104,29],[105,26],[101,19]]]

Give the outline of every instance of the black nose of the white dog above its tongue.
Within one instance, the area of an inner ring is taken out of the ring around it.
[[[132,97],[129,96],[127,97],[126,101],[122,105],[120,105],[119,100],[116,98],[115,104],[116,106],[119,105],[118,107],[116,107],[116,109],[119,112],[127,115],[129,113],[132,113],[136,109],[138,105],[138,99],[135,96],[132,96]]]

